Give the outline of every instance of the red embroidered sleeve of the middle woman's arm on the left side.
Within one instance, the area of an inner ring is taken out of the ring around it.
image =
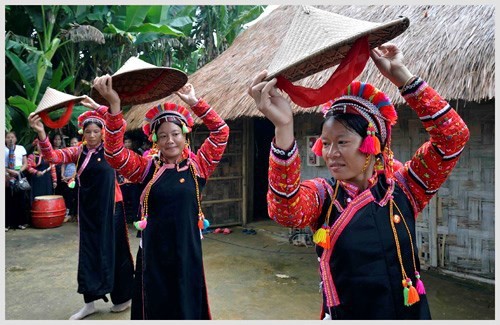
[[[123,146],[126,123],[123,114],[105,114],[104,157],[118,173],[133,183],[144,180],[151,166],[151,158],[142,157]]]

